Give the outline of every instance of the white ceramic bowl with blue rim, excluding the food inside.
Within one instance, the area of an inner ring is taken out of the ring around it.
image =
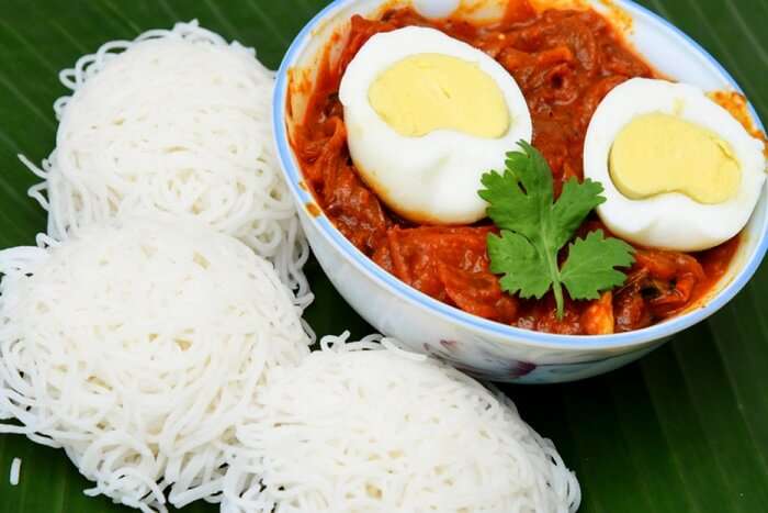
[[[768,246],[765,191],[731,269],[713,293],[686,314],[631,333],[569,336],[510,327],[436,301],[380,268],[349,243],[328,218],[310,213],[312,210],[316,214],[318,209],[302,186],[302,171],[289,143],[290,131],[303,114],[304,98],[292,91],[292,109],[286,109],[286,102],[291,74],[301,70],[312,77],[331,34],[343,27],[352,14],[371,14],[383,3],[392,4],[381,0],[337,0],[315,16],[293,42],[280,68],[273,111],[281,164],[312,248],[341,295],[376,330],[481,378],[526,383],[572,381],[607,372],[650,353],[675,333],[712,315],[755,274]],[[426,7],[444,14],[459,1],[413,0],[413,3],[422,12]],[[481,3],[487,9],[475,10],[475,14],[493,16],[504,2],[463,0],[462,3]],[[606,9],[603,2],[592,3],[598,10]],[[628,38],[657,70],[707,90],[738,90],[727,71],[675,26],[630,1],[615,0],[613,5],[632,18]],[[750,114],[763,130],[752,107]]]

